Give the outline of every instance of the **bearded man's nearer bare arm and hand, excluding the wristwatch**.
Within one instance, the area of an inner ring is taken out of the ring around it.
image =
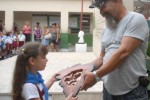
[[[101,78],[117,69],[118,65],[122,63],[123,60],[127,58],[141,43],[142,41],[139,39],[132,37],[123,37],[119,49],[112,54],[112,56],[106,63],[103,63],[103,65],[99,67],[99,69],[95,73],[96,76]],[[85,72],[84,79],[85,81],[83,86],[81,87],[81,90],[87,90],[97,82],[96,77],[92,72]]]

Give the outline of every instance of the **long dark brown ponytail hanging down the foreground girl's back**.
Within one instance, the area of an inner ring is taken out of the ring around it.
[[[27,56],[21,52],[16,60],[16,66],[13,74],[13,82],[12,82],[12,97],[13,100],[22,100],[21,92],[23,88],[23,84],[25,82],[26,73],[27,73]]]

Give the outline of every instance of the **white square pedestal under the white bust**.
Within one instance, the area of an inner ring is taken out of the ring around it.
[[[87,43],[76,43],[75,52],[87,52]]]

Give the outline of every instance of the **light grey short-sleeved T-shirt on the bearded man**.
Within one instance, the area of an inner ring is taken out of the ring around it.
[[[128,12],[116,29],[104,30],[102,35],[102,50],[105,50],[104,63],[107,63],[115,50],[120,47],[121,40],[125,36],[142,40],[142,43],[116,70],[102,78],[105,88],[112,95],[128,93],[138,86],[139,76],[147,76],[145,57],[149,28],[144,16],[136,12]]]

